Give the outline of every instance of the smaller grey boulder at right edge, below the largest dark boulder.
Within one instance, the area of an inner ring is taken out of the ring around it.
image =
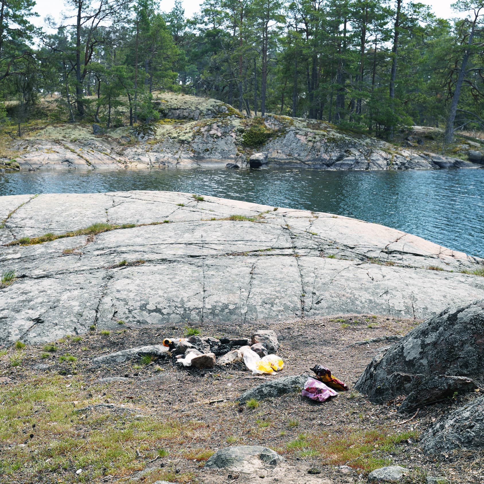
[[[421,438],[428,454],[456,449],[482,451],[484,449],[484,395],[455,409],[432,425]]]

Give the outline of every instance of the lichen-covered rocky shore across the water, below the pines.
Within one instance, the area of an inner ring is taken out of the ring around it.
[[[165,92],[155,98],[154,108],[159,120],[132,128],[105,130],[98,124],[91,128],[50,123],[15,141],[12,148],[20,152],[15,163],[22,170],[227,165],[325,170],[482,167],[482,161],[471,163],[474,158],[465,161],[418,151],[422,150],[418,145],[401,148],[345,132],[328,122],[286,116],[267,116],[263,124],[266,136],[253,138],[247,134],[259,121],[246,119],[232,106],[214,99]]]

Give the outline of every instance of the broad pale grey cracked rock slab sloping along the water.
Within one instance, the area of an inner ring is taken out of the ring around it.
[[[0,289],[0,342],[52,341],[119,320],[426,318],[484,298],[484,278],[460,273],[482,259],[349,217],[274,208],[156,191],[0,197],[0,268],[16,274]],[[98,222],[136,226],[9,245]]]

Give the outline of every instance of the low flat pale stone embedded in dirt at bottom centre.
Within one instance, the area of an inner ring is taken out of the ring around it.
[[[238,445],[220,449],[210,457],[205,469],[253,472],[257,468],[275,467],[284,461],[277,452],[261,445]]]

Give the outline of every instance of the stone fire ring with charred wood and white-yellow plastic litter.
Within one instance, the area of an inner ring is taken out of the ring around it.
[[[284,368],[277,335],[272,330],[261,330],[249,338],[212,338],[197,335],[189,338],[166,338],[163,346],[183,366],[199,369],[227,366],[243,362],[253,375],[270,375]]]

